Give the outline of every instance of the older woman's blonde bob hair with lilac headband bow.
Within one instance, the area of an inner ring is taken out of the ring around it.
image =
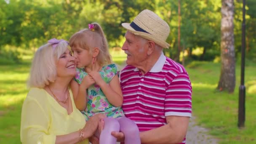
[[[55,48],[47,43],[35,53],[30,68],[30,75],[27,81],[27,87],[44,88],[45,85],[53,83],[56,80],[56,61],[67,50],[66,41],[61,41]]]

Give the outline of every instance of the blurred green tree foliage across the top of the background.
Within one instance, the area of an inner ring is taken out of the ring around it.
[[[247,0],[246,58],[256,60],[256,1]],[[254,9],[253,9],[254,8]],[[109,47],[121,47],[125,29],[143,9],[168,22],[171,44],[165,54],[176,61],[220,61],[221,0],[181,0],[180,49],[178,0],[0,0],[0,56],[19,61],[17,50],[35,51],[52,37],[68,40],[88,23],[98,22]],[[235,54],[240,60],[242,0],[235,0]]]

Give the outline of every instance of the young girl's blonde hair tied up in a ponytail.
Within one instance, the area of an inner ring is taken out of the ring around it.
[[[85,50],[91,51],[93,48],[99,48],[99,54],[97,56],[97,61],[101,66],[106,64],[111,64],[112,59],[109,54],[109,48],[107,44],[107,39],[101,26],[97,23],[92,23],[94,26],[94,31],[90,29],[83,29],[69,39],[70,47],[80,47]]]

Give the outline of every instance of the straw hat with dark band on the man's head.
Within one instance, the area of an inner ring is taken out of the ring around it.
[[[122,26],[129,32],[152,40],[163,48],[169,48],[166,39],[170,33],[169,25],[153,11],[143,10],[135,19],[129,23],[123,23]]]

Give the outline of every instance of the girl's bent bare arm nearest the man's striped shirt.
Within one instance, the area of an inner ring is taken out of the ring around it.
[[[119,78],[115,75],[112,80],[107,84],[102,78],[99,72],[92,71],[89,73],[93,77],[94,81],[101,87],[101,90],[107,97],[107,100],[115,107],[121,107],[123,104],[123,94],[119,82]]]

